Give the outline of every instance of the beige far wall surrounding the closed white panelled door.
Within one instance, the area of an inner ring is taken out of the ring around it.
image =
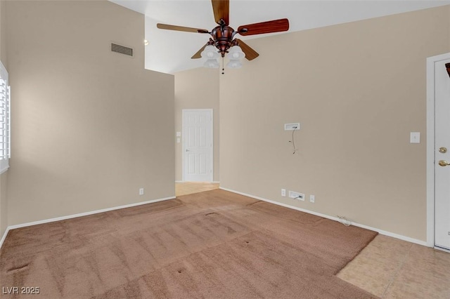
[[[219,181],[219,70],[200,67],[175,74],[175,131],[182,131],[183,109],[213,109],[213,180]],[[174,133],[175,136],[175,133]],[[176,140],[176,137],[174,137]],[[181,143],[175,143],[176,180],[183,180]]]

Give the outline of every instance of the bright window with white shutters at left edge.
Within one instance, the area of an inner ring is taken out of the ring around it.
[[[0,173],[9,167],[11,157],[11,86],[8,85],[8,72],[0,62]]]

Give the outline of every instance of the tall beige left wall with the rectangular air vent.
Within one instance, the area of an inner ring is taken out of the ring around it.
[[[108,1],[6,8],[8,224],[174,196],[174,77],[143,69],[143,15]]]

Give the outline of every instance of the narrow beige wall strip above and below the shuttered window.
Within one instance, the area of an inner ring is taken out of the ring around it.
[[[6,57],[6,2],[0,1],[0,60],[7,68]],[[8,193],[7,185],[8,173],[0,175],[0,239],[8,227]]]

